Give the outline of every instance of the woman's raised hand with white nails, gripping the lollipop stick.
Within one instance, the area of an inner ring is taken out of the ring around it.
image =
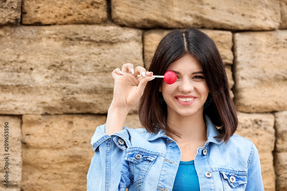
[[[141,77],[137,78],[138,74]],[[129,112],[143,95],[148,81],[154,79],[152,75],[153,73],[147,72],[144,67],[133,68],[131,63],[123,64],[121,70],[119,68],[113,70],[115,86],[111,106]]]

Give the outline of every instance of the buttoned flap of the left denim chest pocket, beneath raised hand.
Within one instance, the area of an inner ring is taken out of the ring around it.
[[[149,160],[154,161],[158,155],[141,150],[128,151],[125,160],[139,164],[142,161]]]

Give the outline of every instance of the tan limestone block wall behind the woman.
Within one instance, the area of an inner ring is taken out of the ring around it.
[[[0,148],[9,153],[9,187],[0,190],[86,190],[90,140],[113,97],[110,73],[125,63],[148,68],[163,36],[189,26],[219,49],[236,134],[256,145],[265,190],[286,191],[287,0],[1,1]],[[141,127],[137,107],[125,126]]]

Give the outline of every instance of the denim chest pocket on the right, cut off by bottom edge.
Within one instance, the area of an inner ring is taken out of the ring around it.
[[[220,171],[220,174],[224,191],[245,190],[247,175],[225,171]]]

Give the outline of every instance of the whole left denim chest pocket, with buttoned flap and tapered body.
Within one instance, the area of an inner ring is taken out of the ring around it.
[[[158,155],[148,151],[128,151],[125,160],[129,161],[130,178],[133,180],[133,187],[144,182],[146,174]]]

